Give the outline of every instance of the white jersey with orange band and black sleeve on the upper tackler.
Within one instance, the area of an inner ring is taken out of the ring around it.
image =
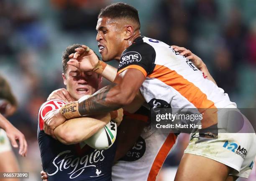
[[[236,107],[228,94],[204,78],[191,61],[159,40],[136,38],[122,53],[118,74],[128,68],[136,68],[145,76],[140,91],[151,108],[155,101],[172,108],[197,108],[200,113],[211,114],[219,108]],[[206,116],[204,114],[203,119]],[[217,118],[217,115],[210,116]]]

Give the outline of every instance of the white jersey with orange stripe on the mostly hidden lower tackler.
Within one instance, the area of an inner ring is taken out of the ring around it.
[[[150,111],[140,108],[136,113],[124,113],[132,119],[149,121]],[[155,181],[166,157],[173,150],[177,136],[146,126],[134,146],[112,166],[113,181]]]

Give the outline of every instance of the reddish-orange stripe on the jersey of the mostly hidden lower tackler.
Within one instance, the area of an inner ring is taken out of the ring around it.
[[[152,167],[150,169],[150,172],[148,174],[148,181],[155,181],[156,176],[159,173],[160,168],[162,167],[169,151],[172,149],[172,146],[175,144],[176,136],[174,133],[170,133],[166,140],[164,141],[164,144],[160,148],[159,152],[156,155],[156,158],[152,164]]]

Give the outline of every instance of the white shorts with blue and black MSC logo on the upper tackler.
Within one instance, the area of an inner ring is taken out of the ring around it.
[[[233,176],[248,178],[256,156],[255,133],[218,133],[217,139],[199,141],[199,133],[192,133],[184,153],[204,156],[234,170]]]

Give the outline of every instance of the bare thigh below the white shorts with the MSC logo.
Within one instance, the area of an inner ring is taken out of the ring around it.
[[[184,154],[175,181],[225,181],[230,168],[203,156]]]

